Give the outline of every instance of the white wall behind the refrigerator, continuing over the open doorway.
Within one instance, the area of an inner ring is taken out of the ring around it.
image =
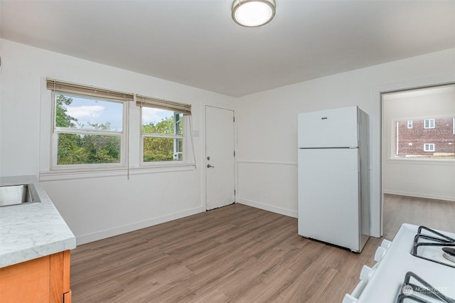
[[[297,216],[297,114],[358,105],[370,115],[372,231],[381,224],[380,92],[455,81],[455,49],[237,99],[237,202]]]

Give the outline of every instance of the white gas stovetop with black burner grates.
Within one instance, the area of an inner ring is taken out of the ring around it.
[[[455,234],[453,233],[435,231],[443,234],[444,237],[455,239]],[[417,234],[423,234],[424,236],[419,236],[416,243],[428,243],[429,240],[432,240],[427,238],[428,235],[429,237],[440,238],[440,235],[434,234],[425,228],[419,230],[417,225],[403,224],[397,235],[395,235],[390,248],[387,249],[375,269],[375,274],[370,278],[365,289],[360,294],[358,302],[392,303],[400,302],[399,299],[402,299],[401,302],[405,303],[444,302],[437,295],[432,294],[431,290],[437,290],[443,297],[455,298],[455,268],[451,265],[441,264],[441,262],[444,262],[442,246],[419,244],[417,245],[417,255],[414,256],[412,252]],[[444,238],[444,240],[448,239]],[[444,247],[446,244],[451,244],[450,240],[448,241],[448,243],[444,243]],[[434,258],[438,262],[427,260],[429,258]],[[446,260],[446,262],[450,261]],[[408,272],[412,272],[412,274],[408,274]],[[406,284],[407,278],[409,278],[408,284]],[[409,288],[412,285],[414,285],[414,289]],[[422,290],[423,294],[419,294],[416,290]],[[412,296],[410,292],[412,292]],[[401,298],[400,294],[403,294]],[[417,300],[414,297],[417,297]],[[452,303],[454,301],[449,300],[446,302]]]

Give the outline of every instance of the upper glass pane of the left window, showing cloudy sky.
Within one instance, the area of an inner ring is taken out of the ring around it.
[[[55,93],[55,126],[122,132],[123,102]]]

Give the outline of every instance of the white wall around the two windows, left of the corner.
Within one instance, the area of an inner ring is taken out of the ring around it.
[[[199,131],[199,136],[193,137],[196,169],[141,171],[146,174],[136,171],[129,180],[124,171],[102,177],[45,179],[55,180],[44,181],[43,187],[79,244],[205,211],[205,170],[201,165],[205,151],[205,105],[232,107],[232,97],[6,40],[0,40],[0,55],[0,176],[39,177],[40,171],[49,170],[51,100],[49,92],[43,89],[45,77],[193,106],[193,129]],[[131,106],[132,114],[134,110],[139,113],[134,107]],[[131,139],[139,142],[137,138]],[[135,153],[139,149],[132,147],[130,159],[138,159],[139,154]]]

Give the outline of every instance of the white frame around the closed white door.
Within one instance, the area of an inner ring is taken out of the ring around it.
[[[232,105],[227,105],[223,103],[218,103],[218,102],[211,102],[211,103],[205,103],[203,106],[203,159],[201,161],[201,164],[203,166],[202,170],[202,182],[201,182],[201,196],[203,198],[203,208],[205,211],[207,211],[207,186],[206,186],[206,180],[207,180],[207,170],[205,169],[205,159],[207,159],[207,121],[206,121],[206,115],[207,115],[207,107],[215,107],[219,108],[220,110],[232,110],[234,113],[234,150],[235,150],[235,157],[234,157],[234,189],[235,189],[235,195],[234,195],[234,203],[237,203],[237,196],[238,196],[238,169],[237,169],[237,112],[235,110],[235,107]]]

